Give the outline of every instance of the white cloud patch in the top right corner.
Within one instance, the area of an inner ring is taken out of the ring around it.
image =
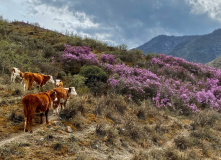
[[[196,15],[206,14],[211,19],[221,23],[220,0],[186,0],[191,5],[191,13]]]

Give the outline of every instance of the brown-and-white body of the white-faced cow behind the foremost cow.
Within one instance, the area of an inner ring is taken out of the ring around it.
[[[66,106],[66,102],[69,97],[69,90],[64,89],[63,87],[54,88],[54,91],[57,93],[57,100],[53,101],[53,114],[58,114],[59,111],[59,104],[61,106],[61,110],[63,109],[62,106]]]

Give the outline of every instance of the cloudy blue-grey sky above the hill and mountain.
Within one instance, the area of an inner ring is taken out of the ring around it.
[[[221,0],[0,0],[0,16],[132,49],[221,28]]]

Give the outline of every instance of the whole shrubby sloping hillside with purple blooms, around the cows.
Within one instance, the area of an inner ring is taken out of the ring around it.
[[[219,69],[3,20],[0,56],[1,159],[221,157]],[[27,92],[10,82],[11,67],[62,79],[78,95],[23,133]]]

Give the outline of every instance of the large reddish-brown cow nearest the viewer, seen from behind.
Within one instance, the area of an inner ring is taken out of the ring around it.
[[[45,112],[46,123],[48,123],[48,112],[52,101],[56,100],[56,92],[54,90],[48,92],[40,92],[36,94],[27,94],[22,98],[22,105],[25,115],[24,131],[28,132],[28,125],[30,133],[32,133],[32,119],[35,112],[41,112],[41,121],[43,123],[42,116]]]

